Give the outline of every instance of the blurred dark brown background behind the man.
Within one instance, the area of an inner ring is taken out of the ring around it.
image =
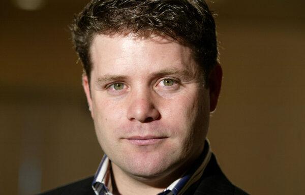
[[[0,194],[93,175],[103,155],[68,24],[84,0],[1,0]],[[305,194],[305,1],[208,1],[224,70],[208,138],[251,194]]]

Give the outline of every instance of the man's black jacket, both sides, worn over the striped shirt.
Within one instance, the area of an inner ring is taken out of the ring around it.
[[[95,195],[92,189],[92,181],[94,177],[59,187],[57,189],[42,193],[41,195]],[[143,193],[144,194],[144,193]],[[215,155],[212,154],[209,163],[207,164],[201,178],[195,182],[184,195],[243,195],[247,194],[238,187],[234,186],[223,174],[217,164]]]

